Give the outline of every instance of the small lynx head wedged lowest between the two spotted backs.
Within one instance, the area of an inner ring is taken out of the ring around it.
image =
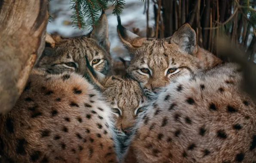
[[[88,75],[100,89],[113,112],[117,135],[125,139],[138,115],[145,111],[147,98],[140,84],[129,76],[105,76],[88,66]]]

